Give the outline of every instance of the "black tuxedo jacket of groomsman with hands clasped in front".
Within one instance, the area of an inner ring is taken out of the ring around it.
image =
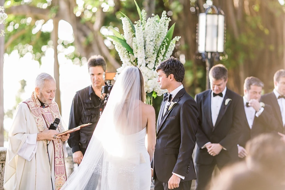
[[[211,164],[215,159],[218,165],[224,166],[238,160],[237,143],[245,119],[243,98],[227,88],[217,121],[213,126],[211,93],[209,89],[195,96],[199,108],[200,124],[196,134],[197,147],[194,160],[196,164]],[[231,101],[225,105],[225,100],[228,98]],[[207,142],[219,143],[227,150],[222,149],[218,155],[211,156],[207,148],[201,149]]]

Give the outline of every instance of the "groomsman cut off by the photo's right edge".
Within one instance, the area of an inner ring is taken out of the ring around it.
[[[274,90],[261,97],[261,101],[269,104],[277,122],[277,132],[285,134],[285,70],[280,69],[274,74]]]

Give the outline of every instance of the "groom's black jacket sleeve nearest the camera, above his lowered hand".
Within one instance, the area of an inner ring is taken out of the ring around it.
[[[181,144],[178,158],[173,173],[188,176],[187,168],[192,159],[193,149],[196,144],[199,113],[196,102],[193,99],[186,100],[180,110],[180,134]]]

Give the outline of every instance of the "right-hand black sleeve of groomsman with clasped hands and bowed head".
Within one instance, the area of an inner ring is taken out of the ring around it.
[[[235,98],[237,99],[237,102],[235,102],[235,105],[232,105],[234,106],[234,112],[231,129],[229,130],[227,136],[225,136],[225,138],[219,142],[219,144],[227,150],[231,149],[233,146],[237,146],[237,142],[240,138],[241,130],[243,128],[243,122],[245,120],[243,114],[245,112],[243,106],[243,98],[241,96],[237,96]]]

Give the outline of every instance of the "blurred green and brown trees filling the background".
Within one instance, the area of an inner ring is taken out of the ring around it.
[[[284,68],[284,1],[281,0],[137,0],[148,17],[167,11],[176,22],[174,36],[181,36],[173,56],[184,63],[184,86],[193,97],[205,90],[205,62],[196,57],[197,15],[213,3],[226,16],[226,54],[219,63],[229,69],[228,87],[243,94],[247,76],[264,82],[264,91],[273,89],[273,75]],[[93,54],[101,54],[108,62],[108,70],[115,71],[121,64],[113,44],[104,36],[108,27],[122,33],[123,12],[134,22],[139,19],[133,0],[6,0],[8,14],[5,50],[17,50],[21,56],[31,52],[41,61],[47,47],[57,53],[67,52],[67,59],[82,64]],[[58,25],[64,20],[73,28],[70,41],[58,38]],[[69,51],[65,51],[69,48]],[[72,50],[72,51],[70,51]],[[59,81],[57,54],[55,78]],[[58,86],[59,89],[59,86]],[[60,94],[58,93],[58,96]],[[154,100],[159,107],[161,98]],[[59,99],[57,97],[57,102]],[[158,111],[157,111],[158,113]]]

